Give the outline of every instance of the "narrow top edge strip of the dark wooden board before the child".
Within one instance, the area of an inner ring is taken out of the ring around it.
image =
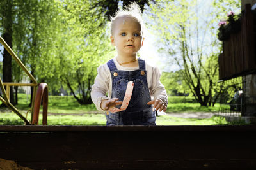
[[[86,132],[86,131],[228,131],[228,132],[256,132],[256,125],[164,125],[164,126],[81,126],[81,125],[0,125],[1,133],[10,132]]]

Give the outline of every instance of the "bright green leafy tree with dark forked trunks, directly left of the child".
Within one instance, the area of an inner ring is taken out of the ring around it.
[[[104,13],[99,13],[100,6],[91,9],[94,4],[90,1],[65,1],[60,6],[61,39],[57,42],[54,76],[78,103],[92,103],[90,88],[97,67],[106,62],[113,50],[105,31]]]

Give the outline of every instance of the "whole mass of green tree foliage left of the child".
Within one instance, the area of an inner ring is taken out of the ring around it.
[[[6,4],[12,12],[4,11]],[[47,83],[50,92],[63,85],[80,104],[92,103],[97,67],[113,51],[106,32],[107,8],[77,0],[1,1],[0,7],[0,32],[12,30],[13,50],[36,80]],[[14,81],[23,80],[15,62],[12,72]]]

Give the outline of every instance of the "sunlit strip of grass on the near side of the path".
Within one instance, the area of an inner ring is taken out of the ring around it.
[[[0,113],[0,125],[24,125],[24,122],[14,113]],[[39,118],[42,124],[42,115]],[[84,115],[48,115],[48,125],[106,125],[104,114],[84,114]],[[157,125],[222,125],[228,124],[223,117],[212,117],[204,119],[177,118],[170,115],[157,117]]]

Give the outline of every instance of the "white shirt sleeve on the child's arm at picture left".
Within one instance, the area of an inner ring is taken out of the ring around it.
[[[92,85],[91,97],[97,110],[104,111],[100,107],[100,103],[102,100],[108,99],[106,92],[108,92],[110,72],[106,64],[98,67],[97,71],[98,74],[94,80],[94,84]]]

